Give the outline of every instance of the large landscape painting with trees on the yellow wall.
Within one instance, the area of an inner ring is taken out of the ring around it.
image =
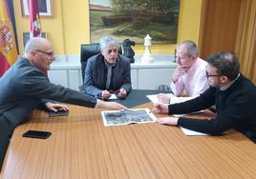
[[[177,43],[180,0],[89,0],[90,37],[97,43],[112,35],[118,42],[129,38],[143,43]]]

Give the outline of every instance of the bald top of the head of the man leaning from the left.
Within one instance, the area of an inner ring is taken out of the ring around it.
[[[42,37],[33,37],[30,39],[25,46],[25,53],[30,53],[32,50],[44,50],[47,47],[51,47],[51,43]]]

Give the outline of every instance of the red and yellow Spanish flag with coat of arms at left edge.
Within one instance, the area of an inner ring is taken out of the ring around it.
[[[18,56],[7,0],[0,0],[0,77]]]

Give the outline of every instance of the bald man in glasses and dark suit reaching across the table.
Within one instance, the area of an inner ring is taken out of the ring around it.
[[[24,55],[0,78],[0,167],[13,129],[24,122],[32,109],[68,109],[53,100],[88,108],[126,109],[115,102],[100,101],[50,83],[46,74],[53,61],[51,43],[44,38],[32,38]]]

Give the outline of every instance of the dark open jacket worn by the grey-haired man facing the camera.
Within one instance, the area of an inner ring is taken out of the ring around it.
[[[96,54],[88,59],[84,75],[84,91],[99,97],[100,92],[106,89],[107,67],[102,54]],[[131,85],[130,60],[118,54],[117,62],[112,70],[110,90],[126,89],[129,93]]]

